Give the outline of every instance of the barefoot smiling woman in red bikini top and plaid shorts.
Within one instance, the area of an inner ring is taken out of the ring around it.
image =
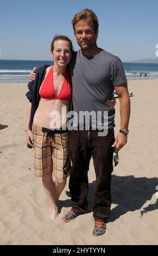
[[[59,214],[56,202],[64,190],[71,168],[68,131],[61,127],[66,127],[72,97],[67,69],[72,51],[72,42],[67,36],[55,36],[51,44],[54,65],[36,71],[36,79],[29,83],[29,92],[26,94],[29,99],[26,140],[34,147],[34,172],[35,176],[42,176],[52,220]],[[53,169],[55,182],[52,178]]]

